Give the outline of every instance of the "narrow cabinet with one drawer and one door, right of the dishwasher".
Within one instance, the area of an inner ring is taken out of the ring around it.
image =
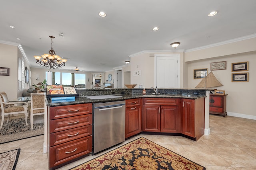
[[[131,137],[142,130],[142,99],[126,100],[125,109],[125,138]]]

